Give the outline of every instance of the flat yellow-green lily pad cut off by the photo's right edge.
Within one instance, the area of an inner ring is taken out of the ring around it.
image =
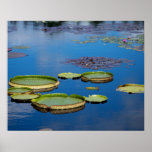
[[[120,85],[117,91],[127,92],[127,93],[144,93],[144,85],[140,84],[125,84]]]

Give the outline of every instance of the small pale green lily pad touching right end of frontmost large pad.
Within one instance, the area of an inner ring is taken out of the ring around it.
[[[88,102],[98,102],[98,103],[107,101],[107,99],[108,98],[103,95],[91,95],[89,97],[85,97],[85,100]]]

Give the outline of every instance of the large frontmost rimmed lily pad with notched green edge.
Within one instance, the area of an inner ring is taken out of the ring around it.
[[[74,94],[68,96],[64,93],[45,94],[33,99],[32,103],[46,109],[71,109],[85,105],[84,97]]]

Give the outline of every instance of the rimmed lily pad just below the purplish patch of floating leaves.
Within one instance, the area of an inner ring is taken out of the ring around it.
[[[94,83],[109,82],[113,80],[113,74],[104,71],[85,72],[81,75],[82,81]]]

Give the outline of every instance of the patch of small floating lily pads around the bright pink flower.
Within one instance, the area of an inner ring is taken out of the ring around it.
[[[121,48],[132,49],[136,51],[144,51],[144,34],[136,35],[135,37],[94,35],[88,37],[84,41],[80,41],[80,40],[73,40],[73,41],[78,44],[87,44],[87,43],[95,43],[100,40],[104,42],[104,45],[106,45],[106,43],[115,43],[118,44],[118,47]]]

